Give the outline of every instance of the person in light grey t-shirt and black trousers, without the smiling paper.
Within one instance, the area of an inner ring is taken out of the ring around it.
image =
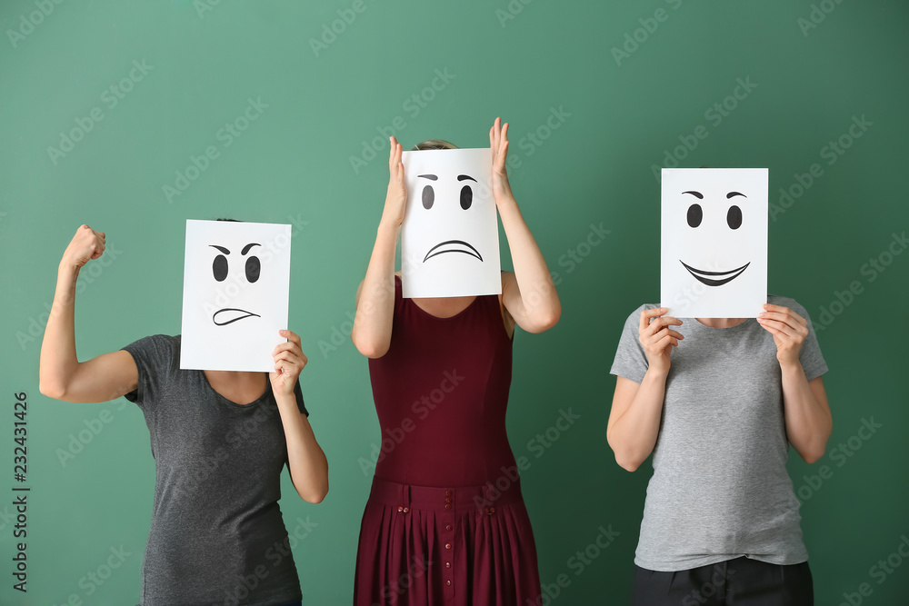
[[[645,304],[624,324],[606,438],[630,472],[654,454],[634,604],[814,603],[785,465],[790,444],[824,454],[827,365],[804,307],[768,302],[684,322]]]

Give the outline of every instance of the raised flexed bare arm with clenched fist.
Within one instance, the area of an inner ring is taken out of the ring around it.
[[[76,231],[57,270],[54,304],[41,343],[38,389],[65,402],[107,402],[135,390],[133,356],[105,353],[80,363],[75,353],[75,283],[79,270],[105,251],[105,234],[88,225]]]

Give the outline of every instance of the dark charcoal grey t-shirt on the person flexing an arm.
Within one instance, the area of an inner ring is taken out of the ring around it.
[[[142,606],[273,605],[301,599],[278,506],[287,446],[271,385],[242,405],[180,369],[180,337],[124,347],[155,457]],[[295,387],[300,412],[308,414]]]

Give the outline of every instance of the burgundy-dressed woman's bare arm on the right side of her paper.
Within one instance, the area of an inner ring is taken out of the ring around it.
[[[559,321],[562,303],[543,253],[524,222],[508,183],[505,171],[508,124],[501,127],[500,124],[500,119],[495,118],[489,129],[489,144],[493,149],[493,194],[514,263],[514,273],[506,272],[502,276],[502,303],[518,326],[528,333],[542,333]]]

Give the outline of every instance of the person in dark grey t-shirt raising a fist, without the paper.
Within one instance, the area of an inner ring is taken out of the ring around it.
[[[80,269],[105,251],[82,225],[57,273],[41,346],[41,392],[66,402],[120,396],[145,415],[155,502],[142,566],[142,606],[299,604],[295,544],[278,500],[286,466],[300,498],[320,502],[328,463],[298,378],[300,337],[275,347],[273,373],[180,368],[180,336],[155,334],[79,362],[73,307]]]

